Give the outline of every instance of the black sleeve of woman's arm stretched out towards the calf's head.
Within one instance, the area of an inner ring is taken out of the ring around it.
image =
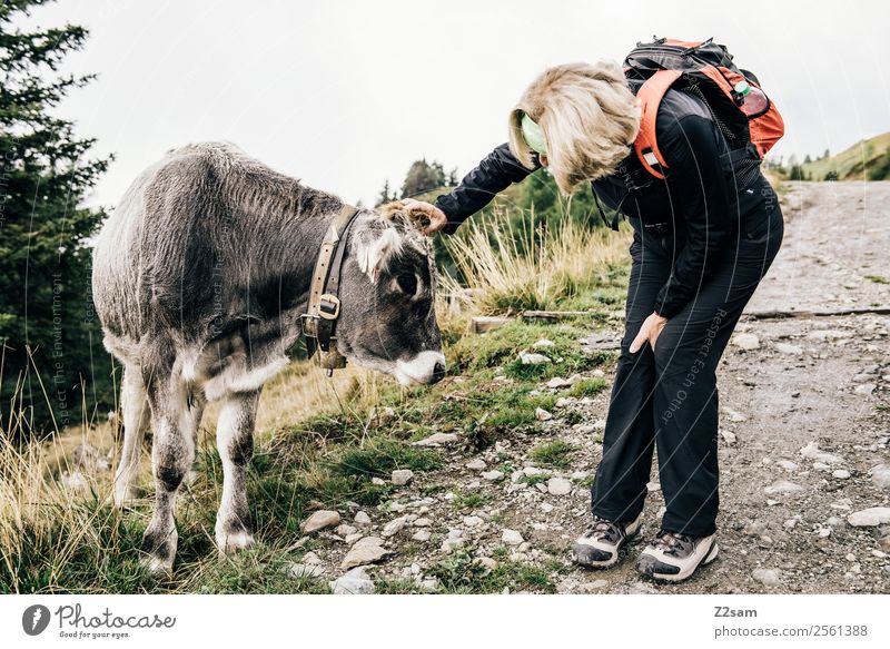
[[[513,183],[520,183],[530,174],[541,168],[541,163],[535,158],[535,168],[527,169],[510,153],[506,144],[501,145],[488,154],[478,166],[464,176],[461,184],[436,198],[435,206],[447,218],[447,224],[442,228],[447,234],[454,234],[457,226],[467,217],[475,214],[488,203],[496,194],[503,191]]]

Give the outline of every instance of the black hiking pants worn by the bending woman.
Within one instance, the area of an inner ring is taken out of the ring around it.
[[[672,317],[655,343],[636,354],[629,347],[652,314],[659,288],[671,273],[683,230],[655,233],[634,225],[626,325],[606,417],[603,459],[593,483],[593,513],[633,520],[643,509],[659,449],[665,530],[695,537],[716,530],[716,366],[730,334],[782,243],[778,201],[742,219],[725,257],[698,295]],[[643,230],[643,232],[641,232]]]

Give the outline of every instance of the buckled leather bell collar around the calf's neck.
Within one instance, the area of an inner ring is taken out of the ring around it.
[[[337,318],[340,315],[340,301],[338,297],[340,284],[340,269],[346,250],[346,234],[358,214],[358,208],[344,205],[337,217],[330,224],[318,257],[315,260],[313,282],[309,287],[309,305],[303,318],[306,346],[309,357],[315,354],[316,346],[323,352],[330,348]]]

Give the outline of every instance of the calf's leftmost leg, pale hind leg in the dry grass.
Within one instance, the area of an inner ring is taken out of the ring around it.
[[[120,401],[123,410],[123,446],[115,474],[115,507],[123,508],[136,500],[142,440],[150,419],[146,386],[141,371],[136,365],[123,368]]]

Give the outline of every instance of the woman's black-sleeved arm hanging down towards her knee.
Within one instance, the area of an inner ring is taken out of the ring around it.
[[[713,122],[698,115],[681,118],[665,142],[670,190],[680,203],[686,245],[674,259],[668,282],[655,301],[655,312],[673,317],[699,292],[719,260],[732,233],[734,203],[723,175],[722,150]]]

